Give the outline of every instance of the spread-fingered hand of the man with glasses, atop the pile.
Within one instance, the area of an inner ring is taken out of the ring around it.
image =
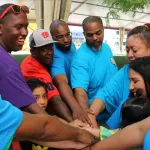
[[[79,106],[73,111],[73,119],[78,119],[91,126],[92,122],[89,119],[88,114],[94,115],[94,112],[89,108],[81,108]]]

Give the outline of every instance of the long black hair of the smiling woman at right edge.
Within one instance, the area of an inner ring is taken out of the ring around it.
[[[147,96],[150,97],[150,56],[136,58],[129,66],[142,76]]]

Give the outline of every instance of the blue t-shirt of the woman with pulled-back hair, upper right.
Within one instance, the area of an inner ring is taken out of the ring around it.
[[[95,96],[95,98],[99,98],[104,102],[110,115],[117,109],[121,101],[126,100],[129,96],[130,80],[128,73],[129,65],[125,65]]]

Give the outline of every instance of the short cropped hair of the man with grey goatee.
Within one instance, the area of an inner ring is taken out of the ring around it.
[[[83,31],[85,31],[85,26],[88,23],[92,23],[92,22],[99,22],[103,27],[103,21],[100,17],[98,17],[98,16],[89,16],[89,17],[86,17],[82,22]]]

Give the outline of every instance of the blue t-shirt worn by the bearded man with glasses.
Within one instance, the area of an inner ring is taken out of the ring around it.
[[[76,52],[75,45],[72,43],[69,51],[60,50],[54,45],[54,57],[51,65],[51,75],[54,78],[56,75],[64,74],[67,76],[70,85],[70,65],[71,60]]]

